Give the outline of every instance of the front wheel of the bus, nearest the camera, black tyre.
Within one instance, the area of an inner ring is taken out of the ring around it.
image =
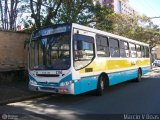
[[[95,94],[96,94],[97,96],[102,96],[103,91],[104,91],[104,89],[105,89],[105,87],[106,87],[106,81],[105,81],[105,80],[106,80],[106,79],[105,79],[105,77],[104,77],[103,75],[101,75],[101,76],[99,77],[98,84],[97,84],[97,89],[96,89],[96,91],[95,91]]]

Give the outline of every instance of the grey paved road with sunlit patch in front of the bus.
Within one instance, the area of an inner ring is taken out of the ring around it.
[[[8,114],[10,118],[22,120],[53,118],[93,120],[113,117],[124,119],[130,114],[140,114],[137,118],[145,115],[147,118],[154,117],[160,120],[160,76],[152,74],[144,77],[140,83],[125,82],[112,86],[100,97],[91,94],[78,96],[53,94],[44,98],[12,103],[1,106],[0,113],[3,117],[4,114]]]

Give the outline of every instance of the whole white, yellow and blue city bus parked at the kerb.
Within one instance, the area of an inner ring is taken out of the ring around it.
[[[43,27],[29,43],[29,89],[102,95],[151,70],[149,45],[75,23]]]

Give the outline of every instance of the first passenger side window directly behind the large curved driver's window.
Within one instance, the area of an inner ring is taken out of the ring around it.
[[[109,57],[109,46],[107,37],[96,35],[97,56]]]

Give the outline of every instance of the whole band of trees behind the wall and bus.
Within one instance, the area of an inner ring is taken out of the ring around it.
[[[94,5],[92,0],[1,0],[0,13],[1,29],[5,30],[16,30],[18,15],[30,13],[29,19],[21,18],[25,28],[30,28],[27,31],[74,22],[147,42],[151,47],[160,43],[160,29],[149,18],[116,14],[110,8]]]

